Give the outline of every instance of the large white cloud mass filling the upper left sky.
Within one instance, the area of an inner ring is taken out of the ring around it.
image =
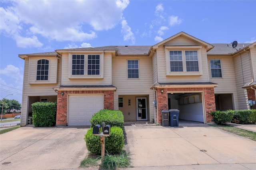
[[[0,9],[1,32],[22,47],[40,47],[41,38],[84,41],[97,37],[96,31],[119,24],[128,4],[129,0],[13,1]],[[20,37],[26,37],[26,43]]]

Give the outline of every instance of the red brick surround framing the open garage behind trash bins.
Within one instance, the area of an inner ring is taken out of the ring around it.
[[[161,93],[161,90],[164,90],[163,93]],[[211,115],[211,111],[216,111],[215,106],[215,96],[214,96],[214,88],[164,88],[164,89],[157,89],[157,98],[158,98],[158,111],[156,114],[158,114],[158,122],[159,124],[162,123],[162,110],[168,110],[168,91],[172,92],[193,92],[193,91],[202,91],[204,92],[204,104],[205,104],[205,113],[206,113],[206,123],[213,122],[213,117]],[[156,115],[157,117],[157,115]]]

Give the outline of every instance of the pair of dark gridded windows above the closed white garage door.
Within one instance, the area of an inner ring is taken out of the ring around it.
[[[99,54],[72,54],[70,78],[102,78],[103,61]]]

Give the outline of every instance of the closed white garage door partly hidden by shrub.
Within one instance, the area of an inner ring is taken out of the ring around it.
[[[103,109],[103,95],[69,95],[68,126],[90,126],[94,113]]]

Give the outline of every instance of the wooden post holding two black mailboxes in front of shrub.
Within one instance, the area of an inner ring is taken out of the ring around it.
[[[101,162],[104,160],[105,156],[105,136],[109,136],[110,134],[110,125],[106,125],[102,123],[102,132],[100,133],[100,125],[96,125],[92,129],[92,134],[94,136],[100,136],[100,143],[101,143]]]

